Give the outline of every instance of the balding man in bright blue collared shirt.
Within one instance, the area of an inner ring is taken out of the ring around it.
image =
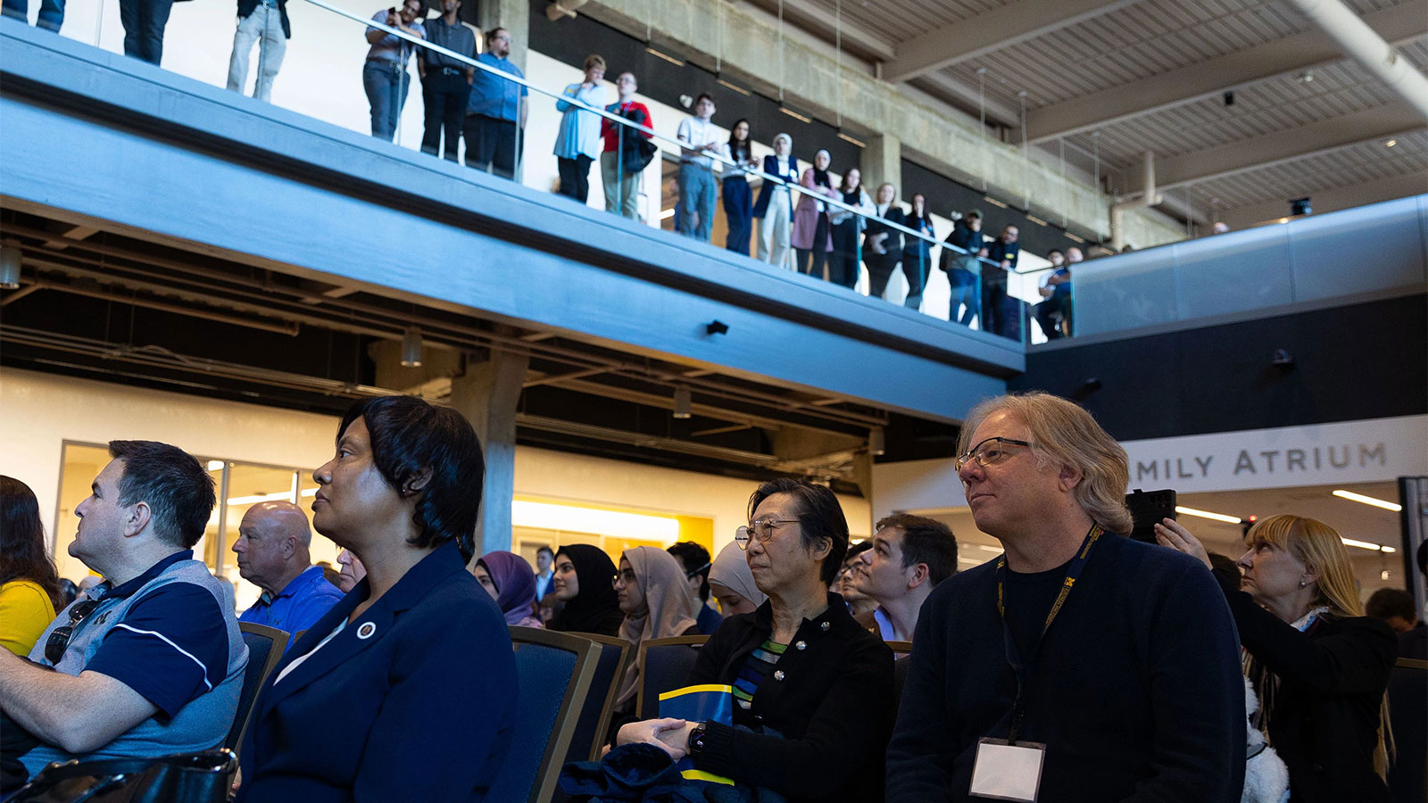
[[[296,636],[343,599],[337,586],[323,577],[323,567],[311,564],[311,543],[307,516],[291,502],[260,502],[248,509],[233,552],[238,556],[238,574],[263,589],[263,596],[238,622]],[[293,640],[288,639],[288,646]]]

